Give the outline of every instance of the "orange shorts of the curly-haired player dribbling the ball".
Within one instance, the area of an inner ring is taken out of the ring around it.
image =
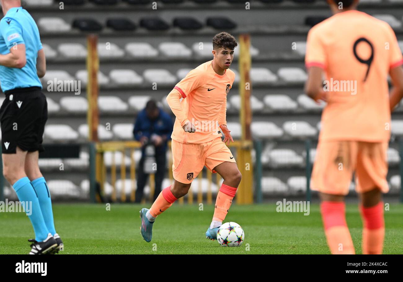
[[[173,177],[181,183],[191,183],[204,166],[215,173],[214,167],[221,163],[236,163],[221,137],[201,144],[183,144],[175,140],[171,144]]]

